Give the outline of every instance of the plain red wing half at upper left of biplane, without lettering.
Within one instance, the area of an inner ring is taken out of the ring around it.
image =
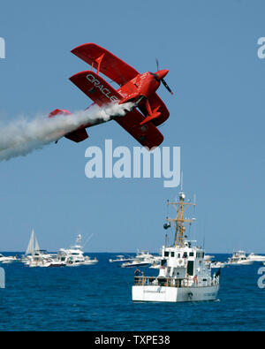
[[[84,43],[72,49],[71,52],[88,64],[93,64],[96,69],[100,64],[100,72],[117,82],[119,86],[124,85],[139,74],[132,66],[95,43]]]

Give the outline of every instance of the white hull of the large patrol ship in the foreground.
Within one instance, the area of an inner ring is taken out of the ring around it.
[[[133,301],[186,302],[216,300],[219,285],[201,287],[133,286]]]

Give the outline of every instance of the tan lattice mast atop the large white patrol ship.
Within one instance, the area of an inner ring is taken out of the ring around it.
[[[176,218],[167,217],[168,222],[173,222],[176,226],[175,237],[174,237],[174,247],[185,247],[185,231],[186,224],[191,224],[193,219],[186,219],[184,213],[190,206],[195,206],[195,202],[185,202],[186,195],[181,188],[179,193],[179,199],[176,202],[167,201],[167,205],[172,205],[177,211]]]

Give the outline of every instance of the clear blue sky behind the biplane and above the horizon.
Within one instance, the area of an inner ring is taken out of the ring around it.
[[[95,42],[133,65],[170,69],[158,94],[170,110],[164,146],[181,147],[188,196],[197,195],[196,238],[212,252],[265,253],[264,73],[257,40],[265,36],[262,1],[9,1],[1,4],[0,115],[34,118],[90,104],[68,78],[87,65],[70,51]],[[87,179],[85,151],[137,143],[116,123],[88,130],[0,163],[0,250],[23,251],[34,226],[41,247],[67,247],[94,233],[93,252],[158,251],[165,201],[179,188],[162,179]]]

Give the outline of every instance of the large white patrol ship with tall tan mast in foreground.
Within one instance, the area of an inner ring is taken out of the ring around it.
[[[192,224],[193,219],[185,218],[184,213],[195,203],[186,202],[185,198],[185,193],[181,190],[178,202],[167,202],[177,210],[177,217],[167,218],[168,223],[164,225],[167,229],[171,222],[175,224],[173,244],[170,245],[166,236],[157,277],[147,277],[143,273],[135,276],[133,301],[216,300],[220,269],[212,277],[210,264],[207,265],[204,260],[204,250],[192,247],[192,243],[186,240],[186,224]]]

